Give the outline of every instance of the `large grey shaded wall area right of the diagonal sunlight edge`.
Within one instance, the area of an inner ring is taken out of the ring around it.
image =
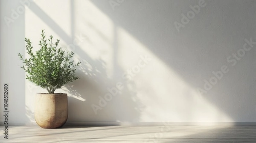
[[[251,16],[255,1],[206,0],[207,5],[180,32],[174,22],[192,11],[189,6],[197,5],[197,0],[127,0],[114,6],[114,11],[110,1],[91,2],[194,89],[204,89],[204,80],[209,81],[212,71],[228,66],[230,71],[202,97],[235,121],[255,121],[255,47],[236,66],[227,62],[227,57],[242,48],[244,39],[256,39],[256,17]]]

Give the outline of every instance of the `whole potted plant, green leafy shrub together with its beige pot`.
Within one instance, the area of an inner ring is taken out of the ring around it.
[[[31,41],[25,38],[29,58],[18,54],[24,64],[21,68],[26,72],[26,79],[48,91],[35,96],[35,121],[42,128],[60,128],[66,123],[67,94],[55,93],[55,90],[79,78],[75,73],[81,63],[75,64],[72,60],[74,53],[58,48],[60,40],[54,43],[52,39],[52,35],[46,39],[42,30],[40,49],[34,53]]]

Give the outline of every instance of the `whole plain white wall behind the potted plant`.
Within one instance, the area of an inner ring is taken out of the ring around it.
[[[82,62],[81,79],[57,91],[69,94],[69,123],[256,121],[256,44],[246,42],[256,41],[253,0],[35,0],[24,12],[20,0],[0,2],[0,82],[9,83],[12,124],[35,123],[34,95],[46,92],[25,80],[17,56],[25,37],[38,48],[41,29]],[[123,89],[99,105],[116,84]]]

